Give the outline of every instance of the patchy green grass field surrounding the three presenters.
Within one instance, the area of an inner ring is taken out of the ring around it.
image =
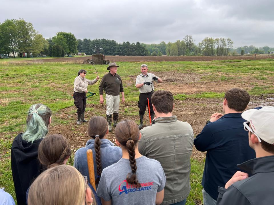
[[[37,59],[37,58],[36,58]],[[17,59],[8,59],[9,62]],[[63,120],[55,117],[67,108],[73,108],[73,81],[79,69],[87,71],[86,78],[94,79],[96,73],[90,64],[72,63],[30,63],[28,65],[9,65],[6,60],[0,60],[0,187],[6,187],[15,199],[14,186],[10,168],[10,149],[13,138],[24,131],[27,111],[31,104],[43,103],[53,110],[51,127],[74,122],[74,119]],[[139,91],[135,88],[136,76],[140,73],[140,65],[146,62],[117,62],[120,67],[124,84],[126,102],[129,105],[122,108],[123,113],[138,122]],[[146,63],[149,72],[156,73],[164,80],[156,89],[170,90],[177,104],[183,104],[192,99],[203,102],[203,99],[221,99],[230,87],[243,87],[252,96],[274,94],[274,61],[212,61],[212,62],[149,62]],[[106,65],[96,65],[100,77],[107,73]],[[178,76],[190,76],[181,79]],[[193,80],[193,76],[196,78]],[[176,81],[171,81],[176,79]],[[192,86],[192,89],[181,89],[180,85]],[[204,86],[205,89],[195,87]],[[207,89],[209,88],[209,89]],[[88,90],[96,95],[88,100],[88,104],[99,104],[98,83],[89,86]],[[218,104],[218,103],[217,103]],[[197,108],[207,107],[200,104]],[[221,105],[219,105],[221,106]],[[89,108],[92,110],[93,108]],[[95,110],[95,113],[100,113]],[[73,113],[73,111],[70,111]],[[174,113],[176,115],[176,113]],[[69,126],[69,125],[68,125]],[[71,130],[77,129],[72,127]],[[201,130],[194,130],[198,133]],[[187,204],[202,203],[202,174],[204,160],[192,158],[190,181],[192,190]]]

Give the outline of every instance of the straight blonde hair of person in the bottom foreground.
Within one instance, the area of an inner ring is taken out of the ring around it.
[[[59,165],[41,173],[30,186],[29,205],[81,205],[85,200],[86,183],[72,166]]]

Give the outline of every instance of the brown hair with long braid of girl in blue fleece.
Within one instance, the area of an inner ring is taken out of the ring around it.
[[[88,136],[95,139],[94,148],[96,152],[96,167],[97,175],[101,176],[102,165],[101,165],[101,140],[108,130],[108,122],[101,116],[94,116],[88,121]],[[96,179],[96,183],[99,183],[99,178]]]

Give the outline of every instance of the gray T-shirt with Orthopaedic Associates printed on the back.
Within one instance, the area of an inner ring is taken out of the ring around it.
[[[132,171],[129,160],[122,158],[102,171],[97,195],[105,201],[112,200],[112,204],[155,205],[156,193],[166,184],[164,170],[158,161],[144,156],[136,159],[136,166],[141,187],[126,182],[126,176]]]

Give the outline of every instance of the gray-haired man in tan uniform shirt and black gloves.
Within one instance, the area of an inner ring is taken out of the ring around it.
[[[148,106],[148,100],[149,100],[151,120],[154,118],[154,111],[151,103],[151,96],[152,96],[152,93],[154,92],[153,81],[156,81],[158,83],[163,82],[161,78],[157,77],[156,75],[152,73],[148,73],[148,66],[146,64],[141,65],[141,73],[142,74],[136,77],[136,83],[135,83],[136,88],[139,88],[139,91],[140,91],[139,102],[138,102],[138,108],[140,109],[139,110],[140,125],[138,126],[139,129],[142,129],[143,127],[143,118],[146,111],[146,106]]]

